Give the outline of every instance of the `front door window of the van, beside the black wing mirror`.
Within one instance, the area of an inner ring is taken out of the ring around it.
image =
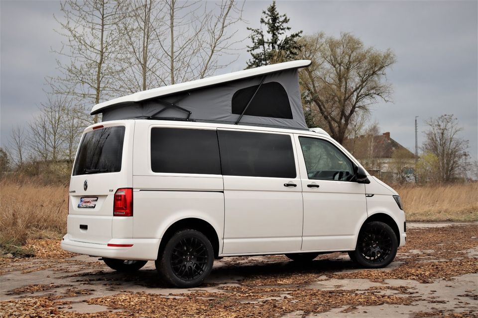
[[[309,179],[349,181],[354,168],[352,162],[331,143],[299,137]]]

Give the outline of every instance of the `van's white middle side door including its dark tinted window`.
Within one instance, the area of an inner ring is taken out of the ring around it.
[[[224,254],[300,250],[302,194],[290,134],[218,129]]]

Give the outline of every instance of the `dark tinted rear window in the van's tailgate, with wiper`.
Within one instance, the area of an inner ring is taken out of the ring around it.
[[[124,126],[105,127],[86,133],[78,150],[73,175],[120,171],[123,140]]]

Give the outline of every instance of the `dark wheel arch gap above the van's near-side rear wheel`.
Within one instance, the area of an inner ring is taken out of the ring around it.
[[[179,230],[182,229],[191,229],[197,230],[204,234],[214,249],[214,256],[217,258],[219,255],[219,236],[214,227],[207,221],[198,218],[185,218],[178,220],[171,224],[168,229],[164,232],[159,243],[158,255],[161,254],[166,242]]]

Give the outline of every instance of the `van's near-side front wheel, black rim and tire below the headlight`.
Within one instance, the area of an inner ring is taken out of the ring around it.
[[[369,222],[362,226],[355,251],[350,258],[366,268],[381,268],[392,262],[397,254],[398,240],[387,224]]]

